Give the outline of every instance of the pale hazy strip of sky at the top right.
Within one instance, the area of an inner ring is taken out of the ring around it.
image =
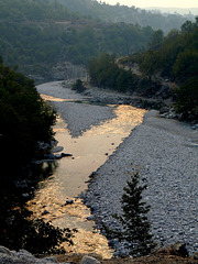
[[[198,0],[102,0],[102,2],[136,8],[163,7],[163,8],[198,8]]]

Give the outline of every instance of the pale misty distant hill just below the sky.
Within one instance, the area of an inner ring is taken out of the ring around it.
[[[180,29],[180,25],[186,20],[194,20],[194,16],[183,16],[177,13],[162,14],[160,12],[152,12],[142,10],[135,7],[125,6],[110,6],[99,3],[97,0],[58,0],[73,12],[89,15],[105,22],[124,22],[130,24],[139,24],[141,26],[150,25],[154,30],[162,29],[165,33],[173,28]]]

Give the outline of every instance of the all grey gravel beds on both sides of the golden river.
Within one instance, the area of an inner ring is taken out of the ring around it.
[[[38,86],[38,91],[65,99],[82,99],[62,82]],[[98,96],[98,95],[97,95]],[[103,97],[103,95],[102,95]],[[92,124],[112,119],[109,107],[74,102],[53,102],[66,120],[73,136]],[[190,253],[198,251],[198,131],[175,120],[162,119],[151,110],[91,180],[85,202],[96,217],[96,226],[118,226],[112,213],[121,213],[120,199],[131,174],[140,172],[147,184],[144,200],[151,206],[148,219],[158,244],[187,243]],[[105,233],[106,234],[106,233]],[[123,244],[112,241],[119,254]]]

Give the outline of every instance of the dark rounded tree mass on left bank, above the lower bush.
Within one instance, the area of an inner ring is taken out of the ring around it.
[[[16,178],[33,157],[43,155],[38,142],[51,144],[56,114],[37,94],[34,81],[0,65],[1,175]],[[9,166],[13,153],[12,166]]]

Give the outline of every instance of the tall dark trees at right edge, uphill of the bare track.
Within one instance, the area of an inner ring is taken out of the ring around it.
[[[140,54],[139,64],[143,73],[162,73],[169,78],[179,78],[180,81],[197,75],[198,53],[197,22],[187,21],[182,32],[172,30],[163,37],[161,31],[153,33],[150,48]]]

